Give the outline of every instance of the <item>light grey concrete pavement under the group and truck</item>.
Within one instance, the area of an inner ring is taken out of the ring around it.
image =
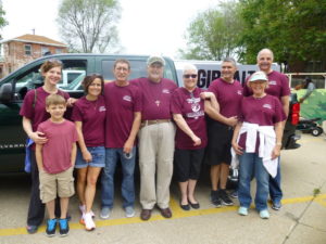
[[[200,209],[184,211],[178,206],[179,191],[172,184],[173,218],[164,219],[155,209],[149,221],[136,216],[125,218],[121,191],[116,187],[115,205],[109,220],[101,220],[99,194],[93,206],[97,229],[87,232],[78,222],[78,202],[70,204],[71,232],[66,237],[47,237],[45,226],[36,234],[25,230],[30,182],[26,175],[0,175],[0,243],[118,243],[118,244],[326,244],[326,140],[302,134],[301,147],[281,152],[283,207],[269,208],[263,220],[254,208],[249,216],[237,214],[235,206],[215,208],[210,203],[209,175],[204,172],[198,189]],[[139,179],[136,179],[139,185]],[[255,182],[252,182],[252,192]],[[99,193],[99,192],[98,192]],[[137,195],[139,187],[137,188]]]

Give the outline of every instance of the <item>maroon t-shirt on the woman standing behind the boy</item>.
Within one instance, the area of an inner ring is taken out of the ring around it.
[[[48,118],[50,118],[50,114],[46,111],[46,99],[50,93],[45,91],[42,87],[36,89],[36,102],[35,107],[33,107],[35,100],[35,90],[30,90],[26,93],[23,105],[21,107],[20,115],[25,116],[32,120],[33,131],[36,131],[38,125]],[[58,90],[58,93],[64,97],[65,100],[70,98],[70,94]]]

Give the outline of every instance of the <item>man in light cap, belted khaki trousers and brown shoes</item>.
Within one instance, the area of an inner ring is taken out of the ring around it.
[[[147,78],[135,80],[142,99],[139,137],[140,218],[148,220],[155,204],[165,218],[171,218],[168,207],[170,183],[173,174],[175,125],[170,108],[173,80],[163,78],[165,61],[150,56]]]

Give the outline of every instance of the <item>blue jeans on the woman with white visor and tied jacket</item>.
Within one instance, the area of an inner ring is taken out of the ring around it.
[[[243,153],[239,157],[240,159],[240,182],[238,190],[238,197],[241,207],[250,207],[251,195],[250,195],[250,182],[252,174],[256,180],[256,192],[255,192],[255,208],[261,211],[267,209],[267,197],[268,197],[268,180],[269,174],[263,166],[262,158],[255,153]]]

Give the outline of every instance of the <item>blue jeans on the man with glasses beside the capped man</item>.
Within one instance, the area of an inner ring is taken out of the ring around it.
[[[123,181],[122,196],[123,207],[134,206],[135,204],[135,170],[136,147],[133,147],[131,157],[127,158],[124,155],[123,149],[105,149],[105,167],[102,172],[102,191],[101,201],[102,207],[113,207],[114,201],[114,172],[118,159],[122,163]]]

